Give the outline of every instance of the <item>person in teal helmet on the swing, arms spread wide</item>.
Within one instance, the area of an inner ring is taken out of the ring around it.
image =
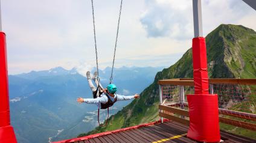
[[[89,83],[89,87],[92,90],[93,99],[83,99],[82,97],[78,97],[78,103],[88,103],[88,104],[95,104],[98,106],[99,109],[107,109],[110,106],[114,105],[117,101],[123,100],[130,100],[130,99],[137,99],[139,98],[139,94],[135,94],[134,96],[121,96],[117,94],[117,87],[114,84],[107,85],[107,88],[103,88],[100,82],[97,80],[97,72],[94,73],[92,79],[94,80],[97,88],[92,83],[91,73],[87,71],[86,77]]]

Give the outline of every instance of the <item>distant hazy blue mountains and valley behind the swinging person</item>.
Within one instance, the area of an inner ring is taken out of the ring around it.
[[[139,93],[159,70],[161,67],[114,68],[113,82],[120,94]],[[18,142],[74,138],[97,126],[97,106],[76,102],[77,97],[92,97],[87,79],[80,73],[76,68],[56,67],[8,76],[11,124]],[[100,70],[99,75],[103,86],[109,84],[109,68]],[[110,115],[130,102],[118,102],[110,108]],[[104,121],[106,113],[101,111],[100,121]]]

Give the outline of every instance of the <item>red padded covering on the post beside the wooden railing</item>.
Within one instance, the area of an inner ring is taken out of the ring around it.
[[[188,138],[201,142],[219,142],[217,94],[209,94],[205,38],[193,38],[194,94],[187,95],[190,114]]]

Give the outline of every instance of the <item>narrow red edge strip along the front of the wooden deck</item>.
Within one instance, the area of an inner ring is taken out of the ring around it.
[[[164,119],[164,122],[166,122],[166,121],[169,121],[169,120]],[[66,139],[66,140],[63,140],[63,141],[56,141],[56,142],[52,142],[52,143],[65,143],[65,142],[83,141],[83,140],[87,140],[87,139],[97,138],[99,136],[110,135],[112,133],[124,132],[126,130],[138,129],[140,127],[153,126],[153,125],[158,124],[158,123],[161,123],[161,120],[146,123],[146,124],[141,124],[141,125],[138,125],[138,126],[126,127],[126,128],[123,128],[123,129],[112,130],[112,131],[97,133],[97,134],[94,134],[94,135],[83,136],[83,137],[80,137],[80,138],[73,138],[73,139]]]

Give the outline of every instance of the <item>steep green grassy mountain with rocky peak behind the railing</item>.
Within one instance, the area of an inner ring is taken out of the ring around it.
[[[256,78],[256,32],[242,25],[220,25],[206,36],[208,75],[210,78]],[[192,49],[169,68],[158,72],[154,82],[141,93],[139,100],[110,117],[108,126],[97,127],[89,135],[107,130],[158,120],[159,79],[193,78]],[[255,99],[255,98],[254,98]],[[256,102],[256,101],[254,101]],[[244,130],[239,132],[245,133]],[[256,136],[251,136],[256,138]]]

